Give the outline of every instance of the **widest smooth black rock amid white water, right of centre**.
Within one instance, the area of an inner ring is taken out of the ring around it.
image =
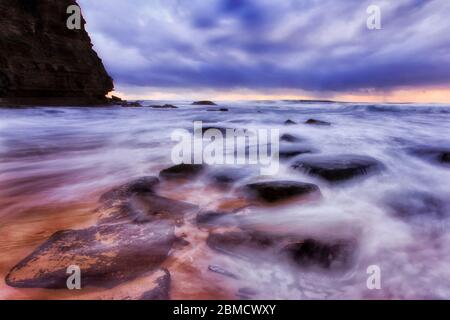
[[[374,158],[359,155],[308,156],[296,161],[292,168],[337,183],[367,176],[381,170],[383,165]]]

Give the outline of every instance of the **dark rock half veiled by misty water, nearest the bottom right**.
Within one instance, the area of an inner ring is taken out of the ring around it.
[[[356,242],[353,240],[321,242],[307,239],[287,245],[282,253],[303,268],[345,270],[351,266],[355,251]]]

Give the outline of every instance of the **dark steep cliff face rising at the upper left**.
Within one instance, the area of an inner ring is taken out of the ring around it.
[[[66,26],[74,0],[0,0],[0,104],[100,104],[113,82],[84,30]]]

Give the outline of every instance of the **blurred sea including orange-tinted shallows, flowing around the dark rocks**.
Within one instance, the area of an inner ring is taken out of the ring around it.
[[[172,298],[450,299],[450,165],[431,159],[429,151],[450,150],[450,106],[223,101],[220,108],[228,111],[219,111],[190,101],[142,103],[178,108],[0,109],[0,298],[72,298],[74,293],[57,290],[11,288],[4,277],[54,232],[95,224],[93,212],[105,191],[171,167],[171,134],[203,121],[214,127],[279,129],[296,137],[281,141],[280,150],[369,156],[383,169],[349,183],[327,183],[292,168],[305,157],[300,154],[281,159],[278,173],[270,177],[243,168],[242,179],[227,188],[204,177],[163,185],[162,195],[202,210],[234,210],[230,203],[243,184],[313,183],[320,200],[233,211],[239,229],[355,244],[343,269],[305,268],[276,253],[261,260],[251,249],[245,257],[212,250],[205,239],[214,230],[187,219],[177,234],[190,244],[166,263]],[[330,125],[309,125],[308,119]],[[294,124],[285,125],[287,120]],[[371,266],[380,270],[381,288],[369,288]],[[224,276],[224,270],[235,277]],[[107,294],[90,289],[75,297]]]

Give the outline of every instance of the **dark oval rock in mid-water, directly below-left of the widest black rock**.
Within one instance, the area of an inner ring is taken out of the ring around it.
[[[251,198],[269,203],[293,198],[320,196],[318,186],[297,181],[258,182],[248,184],[243,189]]]

